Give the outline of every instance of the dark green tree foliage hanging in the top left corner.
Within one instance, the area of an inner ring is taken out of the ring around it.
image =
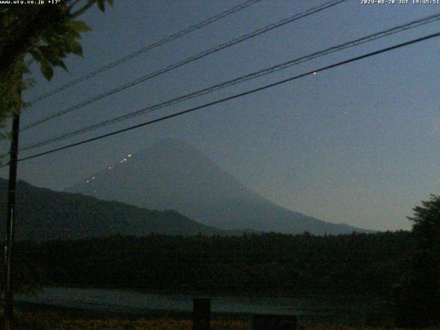
[[[104,11],[105,2],[113,0],[62,0],[45,5],[0,5],[0,123],[21,104],[22,75],[29,72],[32,61],[39,63],[47,80],[54,75],[54,67],[67,70],[63,59],[68,54],[83,56],[81,34],[91,29],[77,18],[95,3]],[[28,57],[30,55],[30,58]],[[28,62],[25,62],[25,59]]]

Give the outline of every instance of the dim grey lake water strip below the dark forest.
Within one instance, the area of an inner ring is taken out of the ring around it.
[[[141,313],[151,309],[189,312],[193,298],[186,295],[146,294],[112,289],[46,287],[36,296],[16,295],[17,300],[63,307]],[[360,297],[265,298],[210,296],[213,313],[287,314],[303,319],[361,319],[373,304]]]

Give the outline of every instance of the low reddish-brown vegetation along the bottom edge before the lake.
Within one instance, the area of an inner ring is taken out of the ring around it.
[[[17,330],[192,330],[191,315],[172,311],[151,311],[148,314],[123,314],[20,303]],[[213,314],[211,330],[251,330],[251,316],[245,314]],[[300,322],[303,330],[397,330],[394,327],[368,327]],[[439,327],[424,328],[438,330]]]

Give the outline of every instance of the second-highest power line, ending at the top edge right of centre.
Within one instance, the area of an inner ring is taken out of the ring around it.
[[[243,41],[246,41],[248,39],[252,39],[256,36],[259,36],[260,34],[263,34],[263,33],[269,32],[271,30],[274,30],[276,28],[279,28],[287,23],[292,23],[293,21],[297,21],[298,19],[302,19],[303,17],[307,17],[307,16],[314,14],[316,12],[320,12],[321,10],[325,10],[327,8],[330,8],[333,5],[338,5],[339,3],[342,3],[344,1],[347,1],[347,0],[332,0],[332,1],[329,1],[329,2],[324,3],[322,5],[319,5],[317,7],[306,10],[305,12],[301,12],[299,14],[294,14],[293,16],[288,17],[287,19],[283,19],[283,20],[278,21],[276,23],[272,23],[270,25],[267,25],[264,28],[261,28],[259,30],[255,30],[254,32],[250,32],[249,34],[244,34],[243,36],[240,36],[239,38],[233,39],[232,41],[228,41],[227,43],[222,43],[221,45],[218,45],[216,47],[212,47],[209,50],[201,52],[195,56],[190,56],[190,57],[184,59],[183,61],[180,61],[180,62],[172,64],[172,65],[168,65],[168,67],[164,67],[162,69],[159,69],[156,72],[153,72],[153,73],[148,74],[146,76],[142,76],[140,78],[137,78],[137,79],[133,80],[131,83],[126,83],[126,84],[121,85],[119,87],[115,87],[114,89],[111,89],[110,91],[106,91],[102,94],[99,94],[98,96],[94,96],[93,98],[89,98],[88,100],[80,102],[79,104],[76,104],[72,107],[69,107],[69,108],[64,109],[62,111],[58,111],[56,113],[52,113],[52,115],[47,115],[45,118],[42,118],[40,120],[36,120],[34,122],[31,122],[27,126],[24,126],[21,129],[21,131],[26,131],[26,130],[30,129],[31,127],[37,126],[39,124],[43,124],[43,122],[47,122],[48,120],[52,120],[54,118],[57,118],[61,115],[64,115],[65,113],[69,113],[69,112],[74,111],[76,109],[80,109],[81,107],[84,107],[87,104],[91,104],[93,102],[96,102],[97,100],[100,100],[100,99],[105,98],[107,96],[111,96],[112,94],[118,93],[124,89],[127,89],[129,87],[133,87],[133,86],[140,84],[140,83],[143,83],[144,81],[146,81],[148,79],[154,78],[154,77],[159,76],[161,74],[165,74],[166,72],[169,72],[173,69],[177,69],[178,67],[186,65],[186,64],[191,63],[193,61],[197,61],[200,58],[203,58],[203,57],[208,56],[210,54],[219,52],[220,50],[224,50],[225,48],[231,47],[232,45],[236,45],[237,43],[242,43]]]

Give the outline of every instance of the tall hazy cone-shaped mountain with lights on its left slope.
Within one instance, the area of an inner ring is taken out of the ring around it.
[[[67,189],[151,209],[173,209],[225,230],[289,234],[364,232],[320,221],[267,201],[190,144],[167,139],[83,179]]]

